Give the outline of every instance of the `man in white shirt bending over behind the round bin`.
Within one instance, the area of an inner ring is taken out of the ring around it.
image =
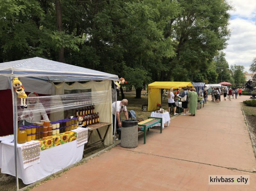
[[[121,127],[121,117],[120,117],[120,112],[124,112],[125,118],[128,118],[128,112],[126,109],[126,106],[128,104],[127,99],[123,99],[122,101],[117,101],[112,103],[112,117],[113,117],[113,135],[115,131],[115,123],[117,124],[116,128]]]

